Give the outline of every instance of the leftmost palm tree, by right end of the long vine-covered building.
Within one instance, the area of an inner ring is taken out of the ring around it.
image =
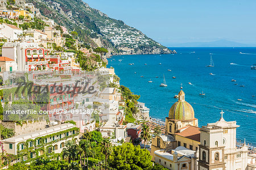
[[[68,159],[68,163],[71,160],[75,160],[77,155],[77,145],[73,140],[65,142],[65,148],[62,150],[63,159]]]

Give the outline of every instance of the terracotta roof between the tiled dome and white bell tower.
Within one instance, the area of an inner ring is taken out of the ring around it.
[[[179,133],[175,133],[175,135],[179,135],[181,137],[185,137],[188,139],[192,139],[194,141],[200,142],[200,128],[196,126],[185,126],[184,128],[179,129]]]

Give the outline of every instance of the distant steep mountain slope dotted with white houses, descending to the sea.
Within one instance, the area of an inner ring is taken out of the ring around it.
[[[22,1],[22,0],[20,0]],[[81,0],[27,0],[40,13],[76,31],[82,41],[93,47],[104,46],[114,54],[168,54],[170,49],[148,38],[122,20],[109,18]]]

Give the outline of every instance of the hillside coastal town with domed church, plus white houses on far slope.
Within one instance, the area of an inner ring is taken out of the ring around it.
[[[166,120],[151,118],[107,67],[103,45],[33,3],[1,1],[0,22],[0,169],[256,169],[256,148],[236,138],[242,125],[221,111],[199,127],[182,87]],[[114,45],[132,44],[125,54],[138,38],[150,44],[126,29],[101,32]]]

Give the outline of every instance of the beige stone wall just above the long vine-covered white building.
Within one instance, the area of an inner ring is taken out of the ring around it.
[[[36,130],[46,129],[46,125],[48,125],[47,121],[35,121],[35,122],[27,122],[22,125],[17,125],[15,122],[0,122],[5,128],[13,129],[16,135],[21,135],[25,133],[30,133]]]

